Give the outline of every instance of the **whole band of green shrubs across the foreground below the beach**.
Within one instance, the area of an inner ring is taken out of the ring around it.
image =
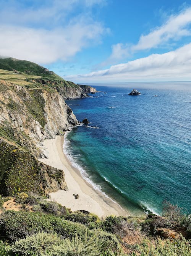
[[[1,198],[0,200],[3,200]],[[4,201],[4,200],[3,200]],[[20,193],[20,211],[0,215],[0,252],[6,256],[188,256],[190,216],[177,206],[164,206],[165,215],[100,219],[32,193]],[[167,205],[167,203],[165,203]],[[29,208],[31,207],[32,212]],[[169,208],[170,207],[170,208]],[[171,210],[176,209],[172,218]],[[72,220],[72,221],[71,221]],[[187,221],[185,221],[187,220]],[[187,223],[187,224],[186,224]],[[155,225],[155,233],[153,226]],[[163,226],[166,233],[159,232]],[[147,227],[147,228],[146,228]],[[107,232],[109,231],[109,232]],[[166,236],[168,235],[168,236]]]

